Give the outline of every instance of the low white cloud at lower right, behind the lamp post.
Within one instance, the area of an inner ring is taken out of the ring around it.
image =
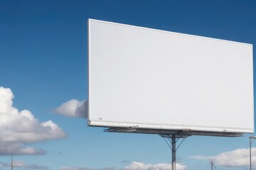
[[[193,156],[193,159],[210,159],[216,166],[225,167],[247,167],[250,166],[249,149],[235,149],[230,152],[223,152],[216,156],[204,157]],[[252,164],[256,164],[256,147],[252,148]]]

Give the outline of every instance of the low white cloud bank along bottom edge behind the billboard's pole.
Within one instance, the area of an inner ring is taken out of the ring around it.
[[[171,164],[144,164],[142,162],[132,162],[128,166],[125,166],[122,170],[171,170]],[[177,170],[186,169],[185,165],[176,164]],[[117,170],[115,167],[105,168],[105,169],[93,169],[93,168],[74,168],[63,166],[60,170]],[[121,170],[121,169],[120,169]]]

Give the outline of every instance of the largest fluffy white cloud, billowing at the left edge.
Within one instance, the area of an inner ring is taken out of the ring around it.
[[[0,87],[0,155],[45,154],[43,149],[25,145],[65,137],[65,132],[52,121],[40,123],[30,111],[18,111],[13,98],[11,89]]]

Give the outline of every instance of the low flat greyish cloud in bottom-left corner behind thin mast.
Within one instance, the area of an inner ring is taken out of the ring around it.
[[[9,168],[11,167],[10,163],[0,163],[0,169],[1,168]],[[14,162],[14,168],[25,168],[25,169],[49,169],[48,166],[41,166],[41,165],[36,165],[36,164],[26,164],[25,162],[22,161],[15,161]]]

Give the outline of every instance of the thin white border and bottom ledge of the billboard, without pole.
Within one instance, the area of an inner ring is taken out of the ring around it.
[[[154,30],[161,33],[173,33],[165,30],[156,30],[151,28],[143,28],[143,27],[137,27],[137,26],[129,26],[125,24],[120,23],[112,23],[107,21],[99,21],[94,19],[88,19],[88,79],[89,79],[89,85],[88,85],[88,122],[87,125],[89,126],[97,126],[97,127],[105,127],[108,128],[105,130],[106,132],[134,132],[134,133],[153,133],[153,134],[163,134],[163,132],[166,132],[166,134],[174,134],[175,132],[179,132],[181,130],[189,130],[191,134],[193,135],[213,135],[213,136],[240,136],[243,133],[253,133],[254,129],[248,130],[243,128],[230,128],[230,127],[213,127],[213,126],[201,126],[201,125],[157,125],[154,123],[134,123],[134,122],[122,122],[122,121],[112,121],[112,120],[101,120],[100,118],[98,120],[92,120],[90,118],[90,22],[100,22],[100,23],[107,23],[107,24],[114,24],[117,26],[127,26],[131,28],[139,28],[144,30]],[[176,35],[187,35],[182,33],[174,33]],[[188,35],[194,38],[206,38],[201,37],[197,35]],[[232,42],[232,43],[238,43],[241,45],[250,45],[247,43],[242,42],[233,42],[229,40],[219,40],[215,38],[206,38],[208,40],[218,40],[223,42]],[[250,45],[252,47],[252,45]],[[253,86],[253,84],[252,84]],[[253,89],[253,87],[252,87]],[[252,94],[253,96],[253,94]],[[253,100],[253,97],[252,97]],[[252,118],[254,118],[254,114],[252,114]],[[254,119],[252,119],[253,126],[254,126]],[[132,130],[131,130],[132,129]]]

